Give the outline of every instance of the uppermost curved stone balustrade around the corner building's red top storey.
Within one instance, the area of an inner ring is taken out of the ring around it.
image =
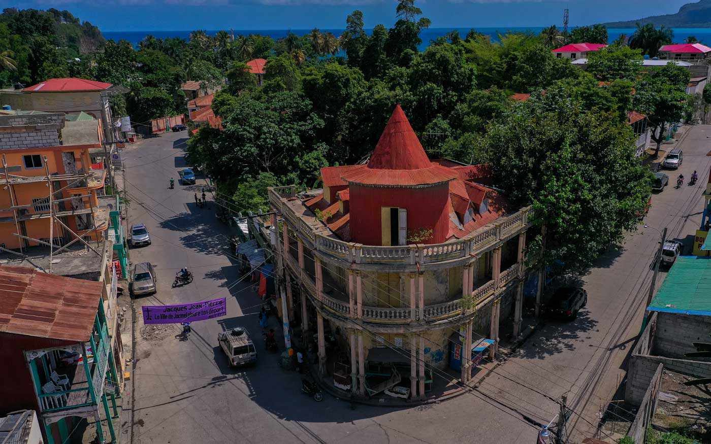
[[[294,187],[269,188],[269,203],[281,212],[284,219],[296,229],[304,239],[309,239],[316,250],[334,258],[355,264],[436,264],[444,261],[464,259],[472,254],[481,254],[493,245],[501,243],[528,226],[530,207],[525,207],[508,217],[499,218],[462,239],[442,244],[411,244],[397,247],[380,247],[343,242],[326,236],[298,217],[285,198],[294,197]]]

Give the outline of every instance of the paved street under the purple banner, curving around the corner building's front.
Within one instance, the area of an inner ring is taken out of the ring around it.
[[[136,324],[139,359],[134,370],[134,443],[534,443],[538,431],[520,415],[481,395],[463,394],[442,404],[390,409],[351,406],[326,396],[316,403],[299,391],[294,372],[262,352],[255,367],[232,370],[218,348],[224,327],[243,325],[257,332],[259,299],[237,281],[235,262],[225,255],[227,230],[208,201],[196,208],[198,185],[176,183],[183,167],[186,132],[164,134],[124,152],[129,223],[144,222],[153,244],[131,250],[132,262],[158,269],[159,292],[137,298],[141,305],[191,302],[226,296],[228,316],[193,323],[187,341],[176,326]],[[196,280],[171,288],[174,274],[188,266]],[[272,323],[276,324],[272,319]]]

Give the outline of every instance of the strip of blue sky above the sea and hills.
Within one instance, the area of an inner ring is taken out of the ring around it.
[[[675,13],[689,0],[424,0],[433,28],[547,26],[632,20]],[[3,0],[2,7],[68,9],[102,31],[343,28],[360,9],[365,27],[395,22],[395,0]]]

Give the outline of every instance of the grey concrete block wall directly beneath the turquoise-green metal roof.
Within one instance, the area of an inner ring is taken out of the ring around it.
[[[695,352],[693,342],[711,342],[711,317],[657,313],[657,328],[651,354],[684,359]],[[696,359],[695,359],[696,360]],[[698,359],[711,362],[711,359]]]

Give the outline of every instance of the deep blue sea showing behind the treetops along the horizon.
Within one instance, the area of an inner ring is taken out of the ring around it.
[[[429,28],[422,33],[420,33],[420,38],[422,38],[422,45],[419,45],[419,50],[424,50],[429,46],[430,41],[436,40],[438,37],[442,37],[451,31],[459,31],[459,35],[464,38],[466,33],[469,32],[471,28]],[[485,34],[486,36],[491,36],[493,40],[498,40],[498,33],[506,33],[506,31],[531,31],[533,33],[540,33],[543,27],[530,27],[530,28],[474,28],[476,31]],[[311,32],[309,29],[292,29],[292,33],[298,36],[304,36],[305,34]],[[321,32],[330,32],[334,36],[340,36],[343,33],[343,29],[321,29]],[[371,29],[366,29],[366,32],[370,33]],[[683,43],[688,36],[695,36],[702,43],[711,45],[711,28],[674,28],[674,43]],[[210,36],[214,36],[217,31],[205,31]],[[113,40],[129,40],[133,45],[137,45],[139,41],[143,40],[149,34],[156,38],[184,38],[188,40],[190,38],[191,31],[112,31],[104,32],[104,37]],[[282,38],[287,36],[289,30],[287,29],[254,29],[250,31],[235,29],[235,36],[239,35],[249,35],[249,34],[261,34],[262,36],[269,36],[274,38]],[[616,40],[620,34],[626,34],[628,37],[634,33],[634,28],[609,28],[607,30],[607,37],[609,42],[612,43]]]

